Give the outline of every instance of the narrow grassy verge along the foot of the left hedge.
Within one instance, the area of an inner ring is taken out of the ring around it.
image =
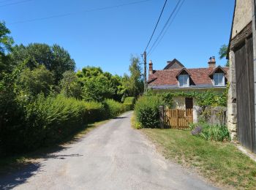
[[[24,167],[27,164],[37,161],[37,159],[45,158],[48,153],[54,153],[65,148],[65,145],[71,144],[80,140],[85,134],[91,132],[97,126],[107,123],[109,120],[99,121],[91,123],[87,126],[81,127],[75,134],[70,134],[69,137],[64,139],[59,145],[52,145],[46,148],[39,148],[37,151],[31,153],[20,153],[15,156],[0,156],[0,175],[7,170],[17,169],[18,167]]]

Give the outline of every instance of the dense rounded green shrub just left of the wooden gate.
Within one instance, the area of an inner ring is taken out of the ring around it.
[[[135,104],[136,120],[143,128],[159,127],[159,106],[164,102],[159,96],[142,96]]]

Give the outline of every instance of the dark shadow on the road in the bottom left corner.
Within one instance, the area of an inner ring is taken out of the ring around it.
[[[26,183],[26,180],[39,171],[39,168],[38,163],[26,163],[23,166],[19,165],[14,173],[0,174],[0,189],[13,189],[15,186]]]

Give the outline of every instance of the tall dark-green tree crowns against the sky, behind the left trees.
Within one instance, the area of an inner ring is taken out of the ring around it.
[[[53,73],[55,83],[58,84],[62,74],[69,70],[75,70],[75,61],[70,58],[67,50],[59,45],[29,44],[28,46],[16,45],[11,53],[12,61],[19,63],[28,60],[30,69],[44,65]]]

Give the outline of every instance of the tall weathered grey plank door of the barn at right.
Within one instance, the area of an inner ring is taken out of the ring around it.
[[[238,141],[255,151],[255,88],[252,37],[235,50]]]

